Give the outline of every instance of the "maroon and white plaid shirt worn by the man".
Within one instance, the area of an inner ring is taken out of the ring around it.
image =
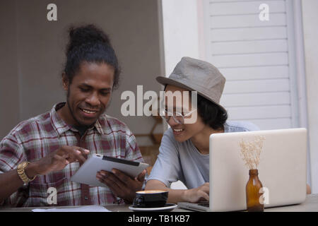
[[[81,137],[76,129],[66,124],[57,114],[57,110],[64,105],[64,102],[54,105],[50,112],[22,121],[8,133],[0,143],[0,173],[16,169],[20,162],[33,162],[45,157],[61,145],[86,148],[90,150],[89,155],[100,154],[143,162],[136,138],[124,123],[102,114]],[[71,182],[71,176],[79,167],[78,162],[73,162],[59,172],[37,176],[33,182],[21,186],[0,205],[81,206],[107,205],[117,201],[117,197],[104,187]],[[57,189],[56,205],[47,202],[49,187]]]

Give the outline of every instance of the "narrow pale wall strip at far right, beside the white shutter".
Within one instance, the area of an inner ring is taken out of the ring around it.
[[[302,1],[312,193],[318,193],[318,1]]]

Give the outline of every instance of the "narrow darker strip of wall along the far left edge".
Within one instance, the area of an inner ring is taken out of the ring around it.
[[[14,1],[0,6],[0,139],[19,120],[16,13]]]

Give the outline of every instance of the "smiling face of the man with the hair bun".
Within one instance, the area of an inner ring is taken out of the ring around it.
[[[114,68],[108,64],[82,62],[71,83],[63,76],[66,105],[58,111],[67,124],[91,126],[105,112],[112,96]]]

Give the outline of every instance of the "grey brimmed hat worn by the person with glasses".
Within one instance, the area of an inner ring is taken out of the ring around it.
[[[211,100],[223,112],[226,112],[224,107],[220,105],[225,78],[215,66],[206,61],[182,57],[169,78],[158,76],[156,80],[163,85],[175,85],[197,91],[199,95]]]

